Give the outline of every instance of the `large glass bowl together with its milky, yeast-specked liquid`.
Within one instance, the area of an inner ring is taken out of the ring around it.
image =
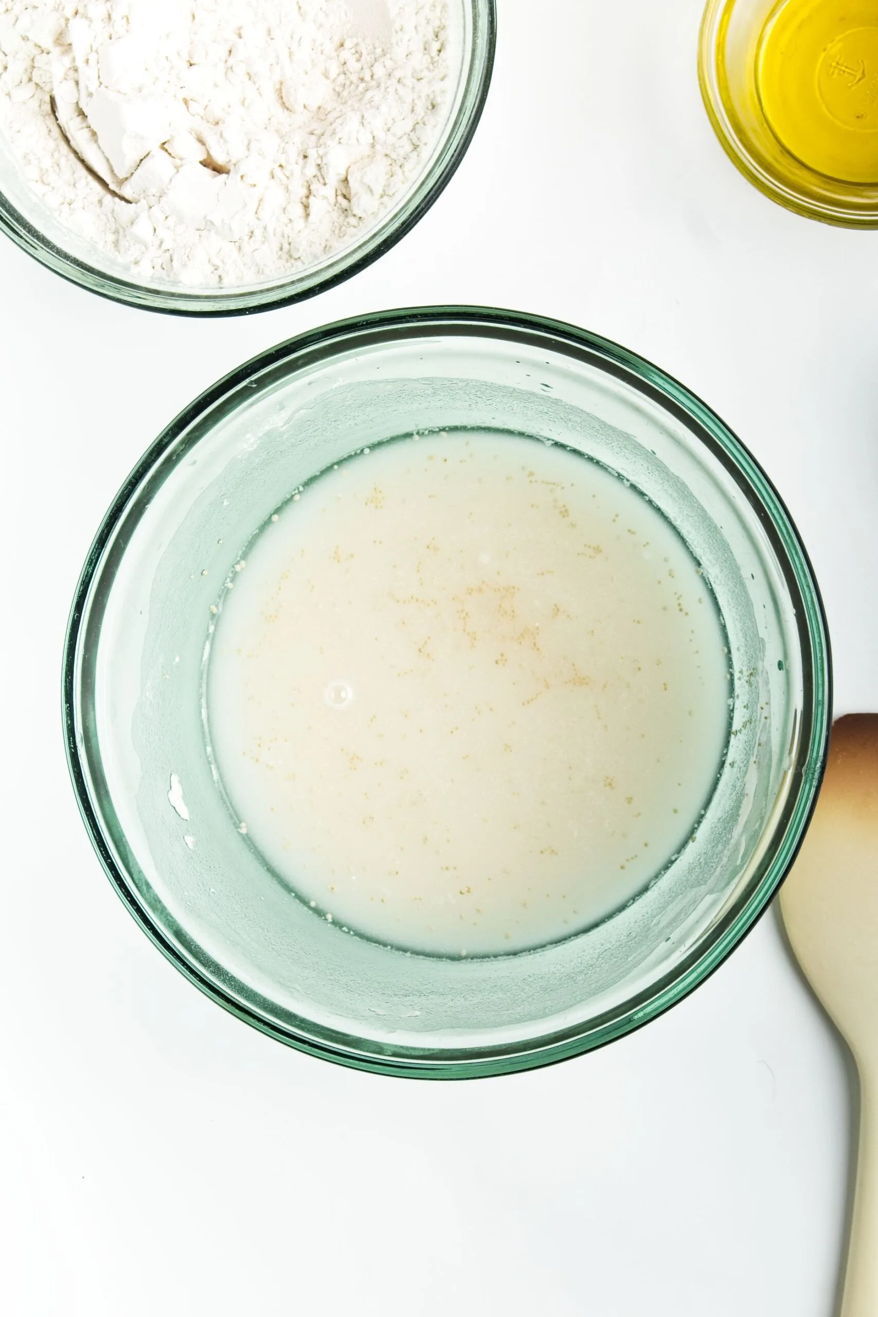
[[[317,329],[132,473],[74,603],[97,853],[286,1043],[466,1077],[645,1023],[766,907],[829,649],[777,493],[692,394],[511,312]]]

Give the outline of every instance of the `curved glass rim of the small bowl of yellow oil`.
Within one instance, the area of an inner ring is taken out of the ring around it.
[[[848,229],[874,229],[878,228],[878,187],[869,184],[845,184],[833,179],[839,188],[850,191],[852,204],[845,205],[840,200],[832,203],[817,196],[808,195],[795,187],[788,186],[781,176],[766,169],[760,158],[749,149],[746,134],[738,126],[725,107],[721,95],[721,86],[727,82],[725,59],[721,43],[728,25],[728,20],[737,0],[707,0],[698,38],[698,82],[702,91],[702,100],[711,126],[719,138],[720,146],[744,178],[752,183],[769,200],[777,202],[795,215],[807,220],[820,220],[823,224],[835,224]],[[785,148],[786,150],[786,148]],[[815,179],[823,178],[808,166],[800,165],[806,173],[811,173]],[[862,204],[853,204],[857,194],[869,192],[870,198]]]

